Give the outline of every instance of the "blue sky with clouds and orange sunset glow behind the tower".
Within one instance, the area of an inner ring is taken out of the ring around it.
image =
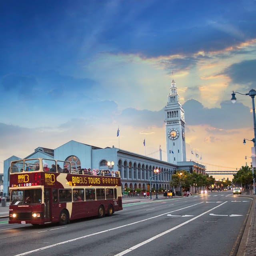
[[[166,160],[172,79],[186,160],[250,164],[252,98],[230,99],[256,89],[255,0],[8,0],[0,17],[0,172],[70,140]]]

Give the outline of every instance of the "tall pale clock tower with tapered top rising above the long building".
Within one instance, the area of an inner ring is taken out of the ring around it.
[[[186,161],[184,109],[177,94],[176,82],[172,79],[168,102],[164,108],[167,162],[177,164]]]

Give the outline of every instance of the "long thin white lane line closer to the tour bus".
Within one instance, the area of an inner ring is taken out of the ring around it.
[[[42,251],[42,250],[46,250],[48,248],[52,248],[52,247],[55,247],[55,246],[59,246],[59,245],[62,245],[62,244],[67,244],[67,243],[70,243],[70,242],[74,242],[74,241],[77,241],[77,240],[81,240],[81,239],[84,239],[84,238],[87,238],[87,237],[90,237],[90,236],[96,236],[98,234],[103,234],[103,233],[106,233],[106,232],[109,232],[109,231],[112,231],[112,230],[117,230],[117,229],[120,229],[120,228],[124,228],[124,227],[127,227],[127,226],[131,226],[131,225],[134,225],[134,224],[138,224],[140,222],[144,222],[146,220],[152,220],[154,218],[158,218],[160,216],[163,216],[163,215],[166,215],[166,214],[169,214],[169,213],[172,213],[172,212],[178,212],[180,210],[184,210],[184,209],[187,209],[187,208],[190,208],[190,207],[193,207],[193,206],[196,206],[198,204],[203,204],[203,202],[200,202],[200,203],[197,203],[197,204],[192,204],[190,206],[186,206],[184,208],[180,208],[180,209],[177,209],[177,210],[173,210],[171,212],[166,212],[166,213],[163,213],[163,214],[160,214],[160,215],[157,215],[157,216],[154,216],[154,217],[150,217],[150,218],[147,218],[147,219],[144,219],[144,220],[138,220],[136,222],[132,222],[130,224],[125,224],[125,225],[122,225],[122,226],[118,226],[116,228],[110,228],[110,229],[107,229],[107,230],[102,230],[102,231],[99,231],[99,232],[96,232],[96,233],[93,233],[93,234],[88,234],[88,235],[85,235],[85,236],[80,236],[80,237],[77,237],[77,238],[73,238],[73,239],[70,239],[70,240],[66,240],[66,241],[63,241],[63,242],[59,242],[59,243],[56,243],[56,244],[52,244],[52,245],[48,245],[48,246],[44,246],[44,247],[41,247],[41,248],[38,248],[38,249],[34,249],[34,250],[31,250],[31,251],[28,251],[28,252],[23,252],[23,253],[20,253],[20,254],[16,254],[14,256],[23,256],[23,255],[28,255],[28,254],[31,254],[31,253],[34,253],[34,252],[39,252],[39,251]],[[215,209],[215,208],[213,208]],[[212,209],[212,210],[213,210]]]

